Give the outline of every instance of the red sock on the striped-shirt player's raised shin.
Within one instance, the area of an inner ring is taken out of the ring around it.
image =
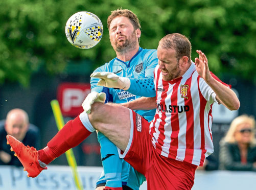
[[[49,141],[47,147],[38,151],[38,159],[49,164],[67,150],[76,147],[91,134],[82,124],[79,116],[67,122]]]

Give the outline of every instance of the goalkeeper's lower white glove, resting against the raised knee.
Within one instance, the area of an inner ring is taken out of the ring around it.
[[[82,103],[82,107],[86,113],[90,113],[91,105],[95,102],[104,103],[106,94],[104,92],[90,92]]]

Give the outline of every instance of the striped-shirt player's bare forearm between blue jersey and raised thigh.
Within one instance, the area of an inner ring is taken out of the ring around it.
[[[132,110],[151,110],[157,106],[155,97],[141,97],[130,102],[122,103],[121,105]]]

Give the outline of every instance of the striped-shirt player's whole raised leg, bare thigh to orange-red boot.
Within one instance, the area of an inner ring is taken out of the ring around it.
[[[105,134],[124,151],[130,137],[130,126],[130,110],[128,108],[117,104],[96,102],[92,105],[91,114],[87,115],[83,112],[74,120],[67,122],[44,149],[36,151],[33,147],[26,147],[11,135],[7,135],[7,140],[29,176],[36,177],[42,170],[47,169],[45,166],[41,166],[39,161],[44,165],[50,163],[68,149],[81,143],[95,129]]]

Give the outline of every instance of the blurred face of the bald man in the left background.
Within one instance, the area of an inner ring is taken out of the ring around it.
[[[23,140],[28,130],[28,124],[25,122],[24,117],[13,114],[6,120],[5,129],[7,134],[14,136],[18,140]]]

